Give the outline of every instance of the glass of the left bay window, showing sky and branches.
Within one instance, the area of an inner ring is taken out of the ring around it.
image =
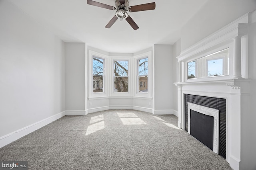
[[[104,59],[93,57],[92,65],[93,92],[103,92]]]

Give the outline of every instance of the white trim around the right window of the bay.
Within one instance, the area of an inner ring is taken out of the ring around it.
[[[138,92],[138,60],[148,58],[148,92]],[[146,97],[146,98],[152,98],[152,52],[149,51],[147,53],[143,53],[140,55],[134,56],[134,66],[135,66],[135,72],[134,76],[136,77],[136,80],[134,81],[134,96],[135,97]]]

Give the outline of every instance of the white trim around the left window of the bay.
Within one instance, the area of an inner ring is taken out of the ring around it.
[[[106,67],[108,66],[108,56],[103,55],[101,53],[97,53],[95,51],[88,50],[88,98],[96,98],[96,97],[106,97],[107,96],[107,84],[108,84],[108,72]],[[92,63],[93,57],[104,59],[104,74],[103,74],[103,92],[94,93],[93,92],[93,72],[92,72]]]

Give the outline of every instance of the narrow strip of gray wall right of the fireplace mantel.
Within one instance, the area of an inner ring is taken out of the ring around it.
[[[255,170],[256,169],[256,132],[253,127],[256,120],[256,22],[249,28],[249,78],[250,83],[250,101],[247,101],[249,111],[243,114],[241,119],[241,163],[240,167],[244,169]],[[246,104],[247,104],[246,103]]]

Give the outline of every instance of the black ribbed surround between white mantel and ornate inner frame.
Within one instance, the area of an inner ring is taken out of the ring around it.
[[[191,94],[184,94],[184,99],[186,131],[188,131],[188,102],[219,110],[219,155],[226,158],[226,99]]]

